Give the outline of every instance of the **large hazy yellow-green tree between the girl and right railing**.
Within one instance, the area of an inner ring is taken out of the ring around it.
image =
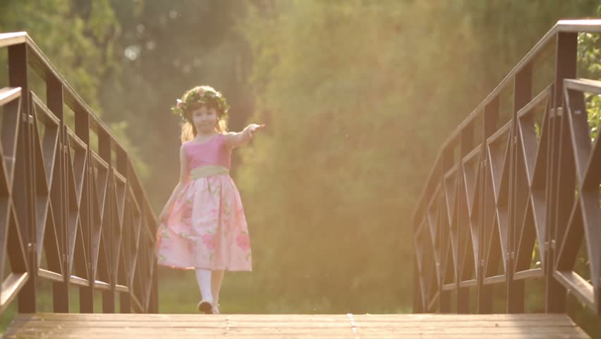
[[[394,311],[411,299],[410,215],[440,143],[555,21],[597,3],[260,4],[241,31],[269,131],[237,179],[261,286],[274,304]]]

